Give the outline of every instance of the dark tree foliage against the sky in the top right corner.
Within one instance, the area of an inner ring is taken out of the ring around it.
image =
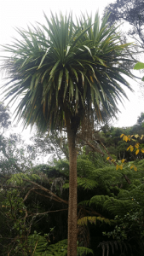
[[[132,49],[129,51],[131,59],[137,62],[143,58],[143,21],[144,21],[144,2],[142,0],[115,0],[108,3],[104,10],[104,15],[109,14],[108,25],[121,25],[124,43],[134,42]],[[133,68],[135,63],[132,63]],[[125,67],[130,67],[130,63],[125,61]],[[135,78],[140,79],[141,75],[135,73]],[[140,80],[138,80],[140,82]],[[141,84],[141,92],[143,95],[143,84]]]

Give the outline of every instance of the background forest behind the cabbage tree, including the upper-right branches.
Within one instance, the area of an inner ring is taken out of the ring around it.
[[[117,1],[105,10],[111,12],[108,26],[124,19],[130,23],[122,40],[138,42],[130,51],[134,62],[143,52],[143,10],[144,4],[134,0]],[[128,62],[123,65],[127,68]],[[67,255],[66,132],[36,131],[27,145],[19,134],[10,133],[10,115],[1,103],[0,255]],[[144,113],[135,125],[122,128],[113,127],[106,113],[103,116],[102,122],[95,117],[93,129],[80,127],[76,137],[78,255],[143,256]]]

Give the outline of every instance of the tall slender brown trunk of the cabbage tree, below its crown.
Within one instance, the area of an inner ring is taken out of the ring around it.
[[[77,149],[75,147],[76,134],[67,127],[69,148],[69,201],[68,201],[68,247],[67,256],[77,256]]]

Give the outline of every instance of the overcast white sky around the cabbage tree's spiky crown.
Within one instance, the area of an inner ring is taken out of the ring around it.
[[[101,17],[103,9],[113,0],[0,0],[0,44],[11,44],[12,37],[17,37],[14,27],[26,28],[30,23],[36,21],[44,23],[43,11],[47,16],[50,10],[55,13],[61,11],[63,14],[72,10],[73,15],[80,15],[81,12],[88,12],[95,15],[97,9]],[[135,71],[135,75],[138,72]],[[142,77],[142,74],[141,74]],[[0,80],[1,82],[2,80]],[[3,81],[2,81],[3,83]],[[119,105],[121,114],[119,121],[113,123],[114,126],[130,126],[134,125],[138,115],[144,112],[144,101],[141,96],[140,89],[135,81],[130,80],[135,93],[128,91],[130,102],[124,101],[124,108]],[[139,91],[139,92],[138,92]],[[0,100],[1,100],[0,96]],[[13,108],[11,109],[13,111]],[[20,129],[21,130],[21,129]],[[27,134],[27,131],[24,134]]]

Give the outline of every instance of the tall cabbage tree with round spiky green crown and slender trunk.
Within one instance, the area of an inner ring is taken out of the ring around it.
[[[107,17],[100,25],[82,15],[53,15],[46,24],[17,28],[20,39],[6,44],[10,53],[3,68],[8,72],[4,84],[6,98],[20,99],[16,108],[24,126],[37,125],[40,131],[67,132],[69,146],[68,256],[77,255],[77,148],[78,128],[85,116],[101,119],[101,111],[112,116],[118,101],[126,97],[122,84],[131,77],[123,67],[129,61],[116,28],[107,28]],[[131,90],[131,89],[130,89]],[[91,114],[90,114],[91,113]]]

